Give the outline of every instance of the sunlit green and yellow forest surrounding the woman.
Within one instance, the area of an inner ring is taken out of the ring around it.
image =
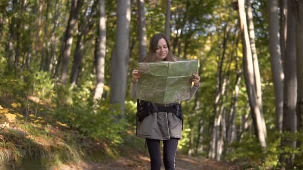
[[[302,16],[303,0],[0,0],[0,169],[148,159],[130,85],[159,32],[199,61],[177,155],[303,169]]]

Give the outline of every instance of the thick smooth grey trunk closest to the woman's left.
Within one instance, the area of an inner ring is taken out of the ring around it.
[[[124,110],[124,101],[127,88],[127,70],[129,60],[129,33],[131,20],[131,1],[118,0],[117,27],[115,48],[112,55],[111,75],[111,104],[120,104]]]

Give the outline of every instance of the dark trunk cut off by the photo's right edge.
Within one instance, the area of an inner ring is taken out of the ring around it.
[[[289,8],[288,8],[289,9]],[[297,119],[298,131],[303,131],[303,1],[298,0],[295,2],[293,11],[296,12],[296,55],[297,55]],[[290,11],[289,11],[290,12]],[[289,18],[288,18],[289,19]],[[298,147],[301,146],[303,141],[298,142]]]

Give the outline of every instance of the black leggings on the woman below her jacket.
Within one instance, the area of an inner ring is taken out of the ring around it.
[[[163,140],[163,162],[165,170],[175,170],[174,159],[177,152],[178,146],[177,138],[170,138]],[[160,154],[160,140],[146,139],[148,146],[150,159],[151,159],[151,170],[161,169],[161,154]]]

